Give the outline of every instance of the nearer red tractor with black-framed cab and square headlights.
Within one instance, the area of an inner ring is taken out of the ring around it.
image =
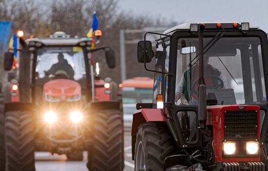
[[[155,51],[148,34],[159,35]],[[133,115],[135,171],[268,171],[264,31],[245,22],[148,32],[138,62],[155,74],[153,103]]]

